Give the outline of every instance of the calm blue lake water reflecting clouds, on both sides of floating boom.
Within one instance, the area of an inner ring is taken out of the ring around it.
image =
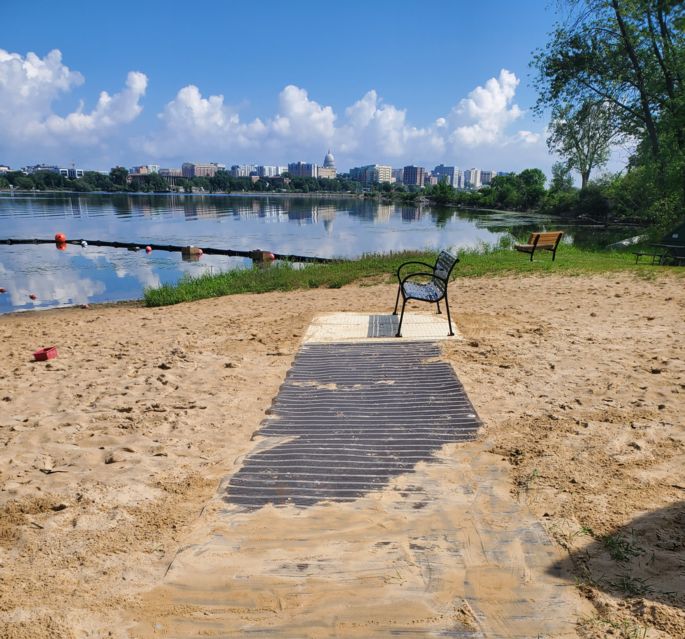
[[[0,239],[54,237],[210,246],[320,257],[493,243],[549,226],[545,218],[354,198],[43,195],[0,196]],[[570,236],[569,236],[570,237]],[[0,313],[136,299],[146,287],[250,266],[242,258],[68,245],[0,245]],[[29,295],[35,295],[31,300]]]

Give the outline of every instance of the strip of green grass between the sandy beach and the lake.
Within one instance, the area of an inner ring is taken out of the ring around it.
[[[297,267],[277,263],[265,268],[254,267],[199,277],[184,277],[178,284],[165,284],[159,288],[147,289],[145,303],[148,306],[166,306],[237,293],[340,288],[353,282],[393,282],[396,281],[394,273],[402,262],[420,260],[432,263],[435,257],[435,252],[428,251],[373,254],[330,264]],[[457,278],[503,274],[582,275],[615,271],[631,271],[641,277],[651,278],[667,270],[685,275],[685,269],[682,268],[635,264],[635,258],[630,252],[591,251],[567,245],[562,245],[557,250],[555,262],[552,262],[551,254],[547,251],[536,255],[531,262],[528,255],[506,246],[481,246],[460,251],[459,258],[460,263],[453,271],[453,276]]]

